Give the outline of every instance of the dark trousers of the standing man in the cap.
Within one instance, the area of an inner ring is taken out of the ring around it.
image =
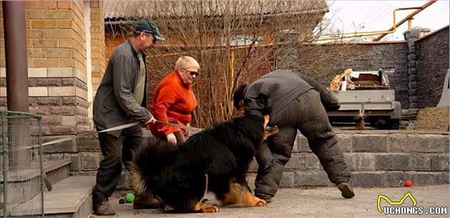
[[[119,137],[108,133],[99,133],[101,154],[104,159],[96,176],[93,190],[94,202],[103,202],[116,189],[121,177],[122,163],[128,169],[134,150],[142,144],[143,136],[140,125],[122,130]]]

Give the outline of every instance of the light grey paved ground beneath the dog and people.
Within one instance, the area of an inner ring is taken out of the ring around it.
[[[110,203],[118,212],[114,217],[411,217],[381,214],[377,209],[379,194],[386,195],[392,202],[399,202],[404,194],[411,192],[416,199],[416,207],[424,207],[424,212],[429,212],[429,207],[446,207],[447,214],[422,214],[416,215],[417,217],[450,216],[449,185],[354,190],[354,199],[344,199],[334,187],[281,189],[265,207],[222,207],[219,213],[214,214],[168,214],[157,209],[133,210],[132,204],[119,204],[119,194],[111,198]],[[206,198],[214,199],[212,194],[208,194]],[[381,207],[388,205],[381,199]],[[406,199],[402,206],[411,207],[411,199]]]

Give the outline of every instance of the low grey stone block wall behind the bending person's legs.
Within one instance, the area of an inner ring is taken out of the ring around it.
[[[355,187],[399,187],[449,183],[449,135],[338,134],[339,147],[350,167]],[[249,184],[257,171],[252,162]],[[319,159],[303,135],[294,142],[281,187],[331,186]]]

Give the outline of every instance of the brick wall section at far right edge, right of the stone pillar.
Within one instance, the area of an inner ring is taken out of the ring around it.
[[[418,107],[436,107],[449,68],[449,26],[419,38],[415,46]]]

